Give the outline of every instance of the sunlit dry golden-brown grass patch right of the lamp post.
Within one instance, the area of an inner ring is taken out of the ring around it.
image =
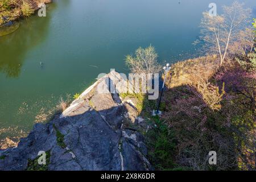
[[[229,61],[226,62],[230,64]],[[192,86],[201,94],[203,100],[211,109],[219,110],[222,96],[225,93],[225,85],[223,84],[222,88],[219,88],[218,85],[210,83],[210,79],[220,70],[218,63],[219,59],[216,55],[177,62],[172,65],[171,80],[170,74],[168,74],[167,86],[169,89],[184,85]]]

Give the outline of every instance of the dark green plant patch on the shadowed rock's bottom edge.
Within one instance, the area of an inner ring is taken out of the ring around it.
[[[46,152],[46,164],[38,164],[38,159],[40,158],[40,156],[38,156],[37,158],[35,158],[34,160],[28,159],[28,163],[27,163],[27,171],[47,171],[48,170],[48,164],[50,162],[50,151]]]

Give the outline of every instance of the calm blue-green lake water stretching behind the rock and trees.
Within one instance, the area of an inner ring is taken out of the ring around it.
[[[99,73],[127,73],[125,55],[139,46],[152,44],[170,63],[195,56],[192,43],[210,2],[61,0],[47,5],[46,17],[20,20],[18,30],[0,37],[0,129],[29,131],[60,97],[82,92]],[[215,2],[220,10],[224,1]],[[256,1],[245,3],[255,10]]]

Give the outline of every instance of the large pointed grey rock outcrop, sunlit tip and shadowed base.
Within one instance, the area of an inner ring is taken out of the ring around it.
[[[0,170],[31,169],[39,151],[49,154],[48,170],[150,170],[143,136],[122,127],[127,102],[116,93],[97,90],[102,81],[115,86],[121,79],[119,73],[110,72],[59,118],[34,125],[18,147],[0,151]]]

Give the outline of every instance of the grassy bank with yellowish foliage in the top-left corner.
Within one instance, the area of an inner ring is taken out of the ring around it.
[[[51,0],[0,0],[0,26],[7,22],[27,17],[38,10],[40,3],[49,3]]]

